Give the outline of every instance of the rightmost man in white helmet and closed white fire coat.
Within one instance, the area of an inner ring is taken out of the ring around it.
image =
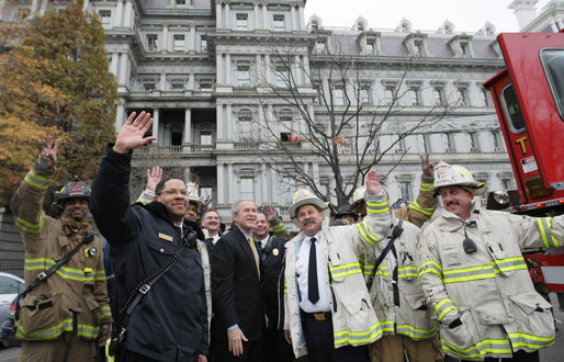
[[[437,165],[433,190],[444,210],[422,231],[416,262],[443,350],[463,361],[539,361],[539,349],[554,343],[554,323],[521,252],[562,245],[564,216],[483,210],[473,199],[484,184],[456,165]]]

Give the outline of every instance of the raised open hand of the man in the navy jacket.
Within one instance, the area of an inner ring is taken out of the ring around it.
[[[153,124],[150,113],[143,111],[137,117],[136,113],[133,112],[128,117],[122,129],[117,134],[115,140],[114,151],[119,154],[128,154],[137,147],[146,145],[151,140],[156,140],[157,137],[143,137]]]

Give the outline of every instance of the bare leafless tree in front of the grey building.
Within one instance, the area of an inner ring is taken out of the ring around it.
[[[420,102],[413,98],[420,98],[421,89],[414,90],[408,81],[417,58],[404,59],[399,76],[386,87],[385,99],[371,100],[368,79],[379,78],[377,63],[322,48],[317,52],[323,54],[312,55],[304,64],[298,61],[300,52],[291,46],[272,49],[257,92],[262,117],[252,121],[255,132],[239,136],[256,143],[258,157],[282,178],[308,186],[328,202],[332,199],[336,205],[350,200],[386,154],[399,154],[401,161],[409,149],[398,146],[407,136],[453,109],[442,101],[416,116],[405,115],[406,108]],[[409,105],[401,101],[406,97],[411,98]],[[330,169],[335,188],[328,194],[305,160]]]

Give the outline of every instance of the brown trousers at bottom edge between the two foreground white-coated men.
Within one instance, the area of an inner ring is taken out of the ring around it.
[[[404,362],[404,353],[407,353],[409,362],[432,362],[444,359],[441,342],[437,336],[415,341],[406,336],[384,335],[369,344],[369,353],[372,362]]]

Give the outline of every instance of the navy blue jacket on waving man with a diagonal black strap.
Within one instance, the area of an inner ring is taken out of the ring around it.
[[[200,227],[184,220],[183,235],[159,202],[129,205],[132,154],[108,147],[92,184],[90,212],[111,245],[115,273],[114,312],[132,291],[177,251],[187,235]],[[153,285],[135,308],[126,348],[159,361],[198,361],[207,354],[207,310],[204,273],[195,238],[181,258]],[[120,316],[117,316],[117,324]]]

